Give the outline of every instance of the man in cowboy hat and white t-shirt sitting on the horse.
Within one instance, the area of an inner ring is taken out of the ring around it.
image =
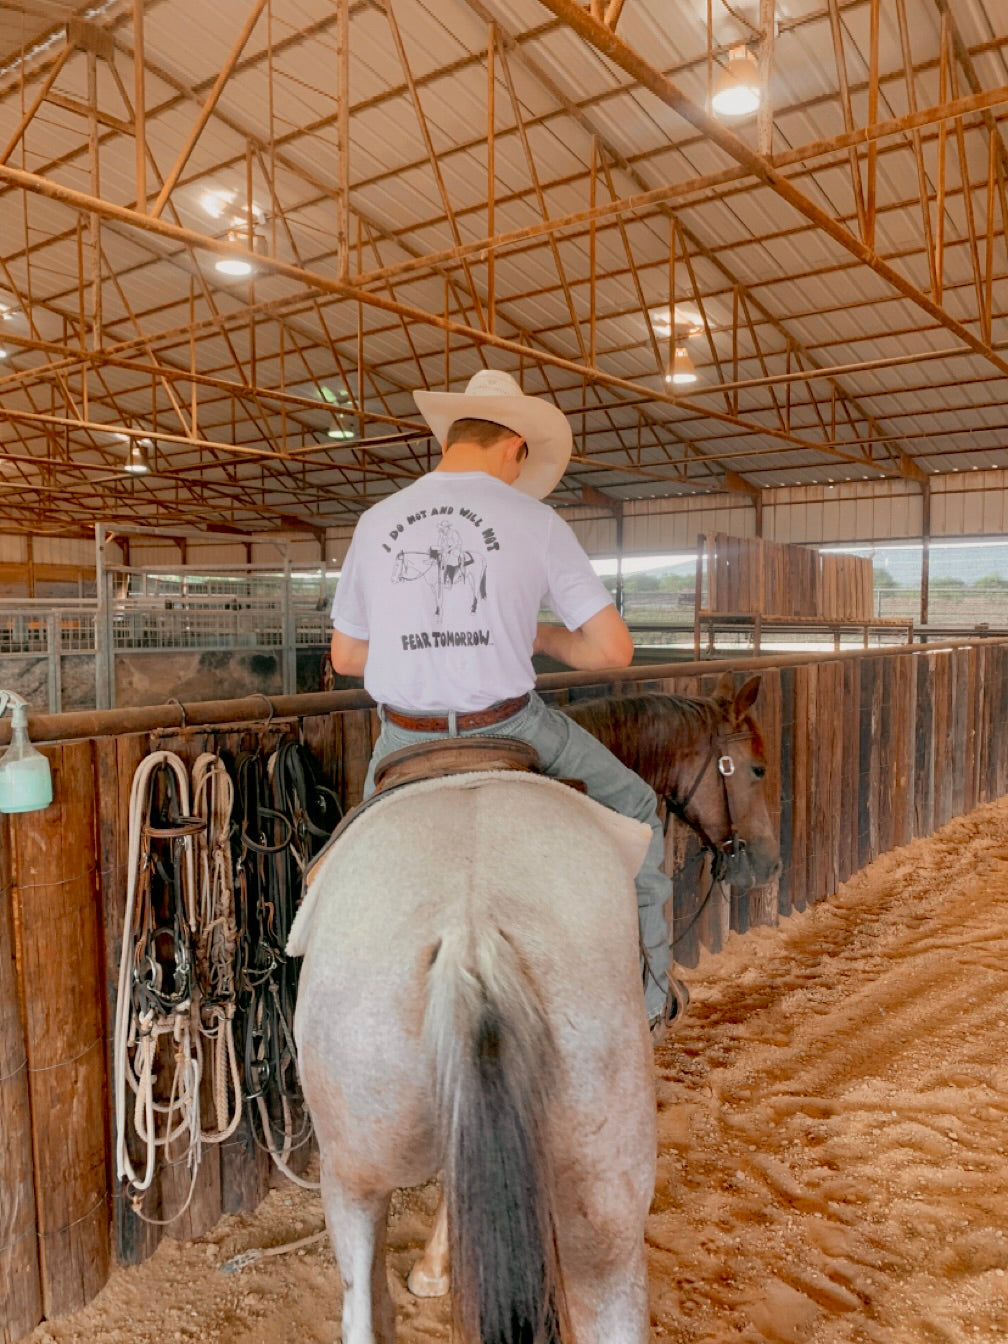
[[[464,392],[417,391],[414,399],[442,445],[441,461],[362,515],[332,605],[333,668],[363,676],[382,720],[364,797],[390,751],[425,738],[489,732],[528,742],[546,774],[583,780],[598,802],[646,823],[652,840],[636,886],[644,1003],[659,1040],[680,1011],[684,986],[669,982],[672,883],[660,867],[655,792],[535,692],[534,653],[585,669],[633,659],[612,595],[571,528],[542,503],[570,461],[570,425],[556,406],[524,395],[509,374],[492,368],[474,374]],[[487,556],[487,597],[478,614],[476,603],[460,614],[461,646],[415,638],[411,585],[390,583],[383,563],[390,536],[435,516],[441,581],[468,554]],[[543,606],[563,624],[540,622]]]

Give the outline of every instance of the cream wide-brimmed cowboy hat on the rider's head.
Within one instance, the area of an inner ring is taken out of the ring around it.
[[[457,419],[485,419],[520,434],[528,457],[515,481],[515,489],[542,500],[567,470],[574,435],[567,417],[540,396],[526,396],[503,368],[481,368],[464,392],[413,394],[421,415],[441,446]]]

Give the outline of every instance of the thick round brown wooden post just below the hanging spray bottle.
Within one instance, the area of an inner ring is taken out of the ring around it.
[[[91,745],[46,755],[54,801],[9,828],[42,1302],[54,1317],[89,1302],[109,1275],[109,1188]]]

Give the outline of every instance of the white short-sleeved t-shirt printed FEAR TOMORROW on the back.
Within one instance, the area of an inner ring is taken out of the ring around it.
[[[431,472],[358,521],[332,624],[368,641],[380,704],[462,712],[535,685],[542,607],[577,630],[612,601],[547,504],[485,472]]]

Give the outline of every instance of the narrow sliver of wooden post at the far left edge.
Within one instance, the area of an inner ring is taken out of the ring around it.
[[[42,1320],[28,1059],[17,1004],[11,919],[11,844],[0,816],[0,1344]]]

